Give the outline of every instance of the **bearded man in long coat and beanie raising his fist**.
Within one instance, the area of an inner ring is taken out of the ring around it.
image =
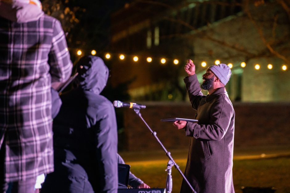
[[[234,108],[226,93],[225,85],[231,71],[226,64],[212,65],[202,76],[201,93],[195,65],[188,60],[184,67],[188,77],[184,78],[188,97],[197,110],[198,123],[176,121],[178,129],[185,129],[190,136],[188,159],[184,175],[198,193],[234,193],[233,149]],[[192,192],[183,180],[181,193]]]

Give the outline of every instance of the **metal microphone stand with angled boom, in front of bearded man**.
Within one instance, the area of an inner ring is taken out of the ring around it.
[[[149,125],[146,123],[146,121],[143,119],[141,113],[140,113],[140,107],[133,107],[135,113],[140,117],[140,119],[142,119],[142,121],[145,123],[145,125],[148,127],[148,129],[150,130],[151,134],[155,137],[155,139],[158,141],[158,143],[161,145],[161,147],[163,148],[163,150],[165,151],[165,154],[167,155],[167,157],[169,158],[169,161],[167,163],[167,169],[165,171],[167,171],[167,179],[166,179],[166,192],[167,193],[171,193],[172,192],[172,176],[171,176],[171,168],[174,165],[174,167],[179,171],[180,175],[183,177],[183,179],[186,181],[186,183],[188,184],[188,186],[190,187],[190,189],[192,190],[193,193],[197,193],[193,187],[190,185],[190,183],[188,182],[188,180],[186,179],[186,177],[184,176],[184,174],[182,173],[182,171],[179,169],[179,166],[175,163],[174,159],[171,156],[171,153],[169,151],[166,150],[166,148],[164,147],[164,145],[161,143],[161,141],[159,140],[159,138],[157,137],[157,133],[154,131],[152,131],[152,129],[149,127]]]

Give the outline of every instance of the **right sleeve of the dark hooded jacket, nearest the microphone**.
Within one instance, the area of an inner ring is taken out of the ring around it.
[[[95,150],[100,175],[100,191],[112,193],[118,189],[117,122],[113,104],[102,103],[95,125]]]

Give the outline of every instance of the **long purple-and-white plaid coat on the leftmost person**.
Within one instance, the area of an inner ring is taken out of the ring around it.
[[[0,17],[0,146],[6,181],[53,171],[51,83],[72,70],[60,22]]]

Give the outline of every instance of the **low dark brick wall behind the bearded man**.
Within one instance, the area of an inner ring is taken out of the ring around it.
[[[143,119],[157,132],[168,149],[187,148],[189,137],[171,122],[160,119],[193,119],[195,111],[187,103],[146,102],[140,111]],[[234,103],[235,147],[290,145],[290,103]],[[151,132],[132,109],[124,109],[124,150],[162,150]]]

